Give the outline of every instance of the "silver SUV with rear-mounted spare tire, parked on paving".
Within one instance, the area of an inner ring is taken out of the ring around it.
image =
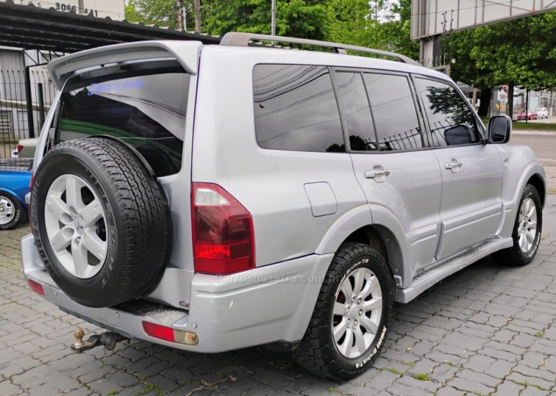
[[[404,56],[229,33],[92,49],[49,71],[60,94],[23,270],[108,336],[207,353],[277,343],[347,379],[379,354],[393,302],[489,254],[537,253],[537,156],[505,145],[508,117],[485,129],[452,80]]]

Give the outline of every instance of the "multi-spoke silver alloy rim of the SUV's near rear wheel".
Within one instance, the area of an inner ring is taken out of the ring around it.
[[[357,268],[342,282],[332,315],[332,338],[346,358],[363,355],[377,337],[382,318],[382,288],[368,268]]]

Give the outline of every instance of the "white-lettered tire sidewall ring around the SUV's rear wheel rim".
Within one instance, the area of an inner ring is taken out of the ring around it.
[[[336,298],[338,297],[343,281],[347,279],[347,276],[351,272],[359,268],[368,268],[375,274],[375,277],[377,277],[379,281],[380,288],[382,290],[382,316],[380,318],[377,336],[375,336],[373,343],[371,343],[366,352],[358,358],[347,358],[343,356],[336,347],[332,333],[332,317],[334,313],[334,303],[336,302]],[[329,299],[329,315],[327,317],[327,341],[330,345],[329,353],[332,355],[334,364],[338,366],[338,372],[363,372],[378,356],[382,346],[384,345],[384,341],[386,340],[386,333],[388,332],[390,325],[393,299],[391,284],[391,277],[386,270],[386,264],[384,261],[379,260],[379,258],[373,256],[372,254],[361,254],[359,257],[350,261],[348,265],[345,265],[345,268],[343,268],[342,276],[334,285],[334,295],[332,295]]]

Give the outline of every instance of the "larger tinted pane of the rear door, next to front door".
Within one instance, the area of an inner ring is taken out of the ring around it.
[[[405,76],[363,74],[369,94],[379,150],[410,150],[423,147],[419,121]]]

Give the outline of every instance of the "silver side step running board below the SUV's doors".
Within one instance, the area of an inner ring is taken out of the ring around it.
[[[511,247],[512,244],[512,238],[489,240],[465,251],[459,256],[445,261],[445,263],[439,264],[436,267],[419,274],[411,282],[409,288],[398,289],[398,302],[410,302],[412,299],[434,285],[434,283],[438,283],[442,279],[449,277],[451,274],[458,272],[462,268],[475,263],[475,261],[480,258],[486,257],[497,250],[504,249],[505,247]]]

